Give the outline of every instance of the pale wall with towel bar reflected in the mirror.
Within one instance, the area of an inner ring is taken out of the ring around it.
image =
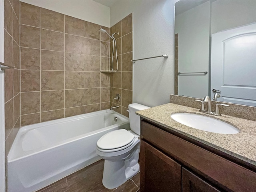
[[[175,18],[179,34],[179,72],[209,72],[210,2]],[[179,75],[178,94],[195,98],[208,95],[209,76]]]

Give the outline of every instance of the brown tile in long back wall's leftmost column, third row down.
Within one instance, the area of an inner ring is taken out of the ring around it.
[[[40,50],[20,48],[20,68],[40,70]]]

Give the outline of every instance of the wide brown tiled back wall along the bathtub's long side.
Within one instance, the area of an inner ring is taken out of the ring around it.
[[[21,126],[110,107],[110,28],[20,2]]]

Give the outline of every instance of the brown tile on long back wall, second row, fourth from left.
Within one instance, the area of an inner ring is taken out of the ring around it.
[[[100,41],[84,38],[84,54],[100,56]]]

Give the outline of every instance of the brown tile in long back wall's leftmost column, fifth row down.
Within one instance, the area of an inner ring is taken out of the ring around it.
[[[40,112],[40,92],[20,94],[21,115]]]

